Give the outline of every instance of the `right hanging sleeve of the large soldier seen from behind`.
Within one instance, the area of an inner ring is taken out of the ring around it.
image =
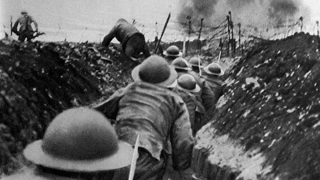
[[[178,113],[170,133],[172,162],[175,170],[183,170],[191,163],[193,136],[185,103],[178,103]]]

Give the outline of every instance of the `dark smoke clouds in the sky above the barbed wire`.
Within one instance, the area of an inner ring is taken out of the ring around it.
[[[185,23],[187,17],[193,22],[210,25],[219,24],[232,12],[234,23],[279,25],[287,21],[297,21],[301,14],[299,0],[181,0],[177,20]]]

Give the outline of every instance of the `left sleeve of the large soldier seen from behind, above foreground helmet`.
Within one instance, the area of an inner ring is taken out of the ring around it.
[[[118,103],[122,97],[122,94],[123,89],[118,89],[108,99],[92,106],[92,108],[102,112],[109,119],[115,119],[118,112]]]

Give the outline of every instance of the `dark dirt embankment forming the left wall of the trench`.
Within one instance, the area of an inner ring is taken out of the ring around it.
[[[136,64],[96,44],[0,41],[0,172],[23,166],[24,146],[63,109],[88,105],[131,81]],[[110,61],[113,61],[111,64]]]

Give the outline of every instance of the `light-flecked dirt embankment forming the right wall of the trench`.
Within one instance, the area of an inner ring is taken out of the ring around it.
[[[212,121],[197,133],[198,177],[320,178],[319,48],[304,33],[263,41],[230,69]]]

